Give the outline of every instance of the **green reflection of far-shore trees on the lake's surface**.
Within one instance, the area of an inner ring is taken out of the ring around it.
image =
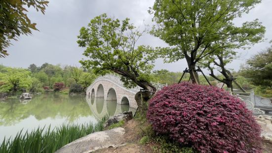
[[[67,118],[72,122],[80,116],[91,115],[84,96],[44,94],[35,95],[27,104],[19,99],[8,99],[0,103],[0,125],[12,125],[33,115],[38,120],[45,118]]]

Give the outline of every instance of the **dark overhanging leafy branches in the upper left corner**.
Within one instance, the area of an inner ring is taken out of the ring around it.
[[[44,14],[46,0],[0,0],[0,58],[8,55],[5,50],[20,35],[31,35],[31,29],[38,30],[27,16],[26,7],[34,7]]]

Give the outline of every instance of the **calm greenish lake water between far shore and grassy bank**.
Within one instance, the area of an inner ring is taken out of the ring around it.
[[[38,127],[60,126],[63,123],[97,123],[104,115],[132,111],[128,104],[119,105],[116,100],[104,101],[82,95],[41,94],[32,100],[0,100],[0,144],[4,137],[14,137]]]

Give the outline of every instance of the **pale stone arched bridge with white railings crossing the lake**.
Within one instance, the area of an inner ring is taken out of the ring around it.
[[[152,84],[157,90],[160,90],[165,86],[154,82],[152,82]],[[134,97],[140,89],[141,87],[139,86],[128,89],[123,86],[123,82],[120,80],[119,76],[105,75],[96,78],[95,81],[87,88],[86,99],[88,101],[92,98],[96,100],[102,99],[104,101],[117,100],[117,104],[129,104],[131,108],[137,108],[137,103]]]

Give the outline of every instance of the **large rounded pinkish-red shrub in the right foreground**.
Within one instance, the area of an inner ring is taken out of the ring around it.
[[[201,153],[261,153],[261,131],[245,104],[223,89],[182,82],[150,101],[147,118],[157,134]]]

